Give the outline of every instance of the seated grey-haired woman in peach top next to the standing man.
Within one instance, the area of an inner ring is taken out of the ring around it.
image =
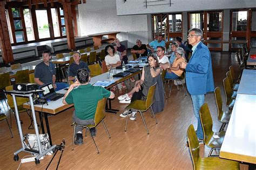
[[[184,49],[179,47],[175,52],[176,58],[174,59],[170,68],[167,68],[165,79],[178,79],[183,73],[184,69],[179,67],[179,62],[186,62],[184,58]]]

